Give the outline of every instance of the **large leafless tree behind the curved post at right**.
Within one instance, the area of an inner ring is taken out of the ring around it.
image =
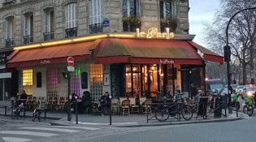
[[[215,13],[213,24],[205,24],[204,41],[211,49],[223,54],[226,43],[225,29],[230,17],[241,9],[256,6],[256,0],[219,0],[220,8]],[[250,67],[250,77],[254,76],[254,58],[256,57],[256,12],[243,11],[232,20],[228,35],[232,48],[232,68],[241,66],[243,84],[247,83],[246,67]],[[238,61],[236,61],[238,60]],[[240,71],[239,69],[237,71]],[[241,73],[239,73],[241,75]]]

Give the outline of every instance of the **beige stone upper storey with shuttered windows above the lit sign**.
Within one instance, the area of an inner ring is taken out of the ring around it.
[[[189,34],[189,0],[0,0],[0,49],[101,32]]]

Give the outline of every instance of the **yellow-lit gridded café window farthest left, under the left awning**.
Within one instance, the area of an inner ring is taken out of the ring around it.
[[[33,94],[33,70],[23,70],[22,71],[22,86],[28,95]]]

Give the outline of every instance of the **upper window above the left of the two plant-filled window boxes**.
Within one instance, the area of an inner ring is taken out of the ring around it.
[[[139,0],[124,0],[123,1],[123,16],[129,17],[139,15],[140,1]]]

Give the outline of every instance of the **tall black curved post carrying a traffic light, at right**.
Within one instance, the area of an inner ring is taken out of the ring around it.
[[[230,51],[230,47],[228,46],[228,28],[229,28],[229,24],[231,23],[232,19],[239,14],[242,11],[247,11],[247,10],[254,10],[256,9],[256,7],[249,7],[249,8],[245,8],[242,9],[241,11],[237,11],[234,15],[232,15],[232,17],[229,19],[228,21],[228,25],[226,28],[226,46],[224,46],[224,56],[225,56],[225,62],[227,62],[227,71],[228,71],[228,113],[232,114],[232,106],[231,106],[231,78],[229,75],[229,62],[230,62],[230,56],[231,56],[231,51]]]

